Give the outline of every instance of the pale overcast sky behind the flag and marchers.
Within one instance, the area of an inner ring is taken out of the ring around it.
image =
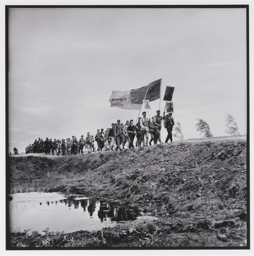
[[[246,10],[13,8],[9,150],[136,120],[139,110],[111,108],[109,96],[160,78],[162,98],[175,86],[184,139],[202,137],[196,118],[226,135],[226,113],[246,134]],[[163,141],[166,134],[162,128]]]

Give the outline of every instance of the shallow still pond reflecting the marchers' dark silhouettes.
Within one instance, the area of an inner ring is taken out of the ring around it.
[[[10,232],[24,229],[74,232],[112,227],[117,221],[135,220],[139,212],[113,201],[30,192],[11,194]]]

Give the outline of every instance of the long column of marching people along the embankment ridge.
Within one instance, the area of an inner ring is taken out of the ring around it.
[[[172,142],[172,130],[174,119],[172,113],[163,116],[160,116],[160,110],[156,111],[157,115],[153,116],[151,119],[146,117],[146,111],[142,112],[142,117],[139,117],[137,124],[133,124],[133,120],[126,121],[125,124],[121,123],[118,119],[117,123],[112,123],[111,128],[107,128],[104,132],[104,129],[98,129],[95,136],[90,135],[90,132],[87,133],[87,136],[84,138],[81,135],[81,138],[77,140],[77,137],[72,136],[72,139],[67,138],[66,140],[61,139],[57,140],[48,139],[43,140],[38,138],[34,143],[26,147],[26,154],[28,153],[45,153],[52,155],[56,154],[58,156],[66,155],[76,155],[83,154],[83,148],[86,147],[88,153],[95,152],[94,144],[97,143],[97,152],[101,152],[103,148],[105,150],[120,150],[124,149],[125,144],[128,141],[128,147],[134,148],[133,141],[135,137],[137,138],[136,147],[152,145],[151,143],[157,144],[161,141],[160,131],[162,127],[162,121],[164,128],[167,129],[168,135],[165,140],[165,143],[170,140]],[[149,141],[149,133],[151,139]],[[145,140],[146,139],[146,140]]]

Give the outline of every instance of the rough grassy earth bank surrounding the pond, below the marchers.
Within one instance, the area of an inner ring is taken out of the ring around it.
[[[246,246],[246,137],[122,152],[10,157],[10,192],[120,200],[158,219],[94,232],[11,233],[11,246]],[[46,225],[46,224],[45,224]]]

